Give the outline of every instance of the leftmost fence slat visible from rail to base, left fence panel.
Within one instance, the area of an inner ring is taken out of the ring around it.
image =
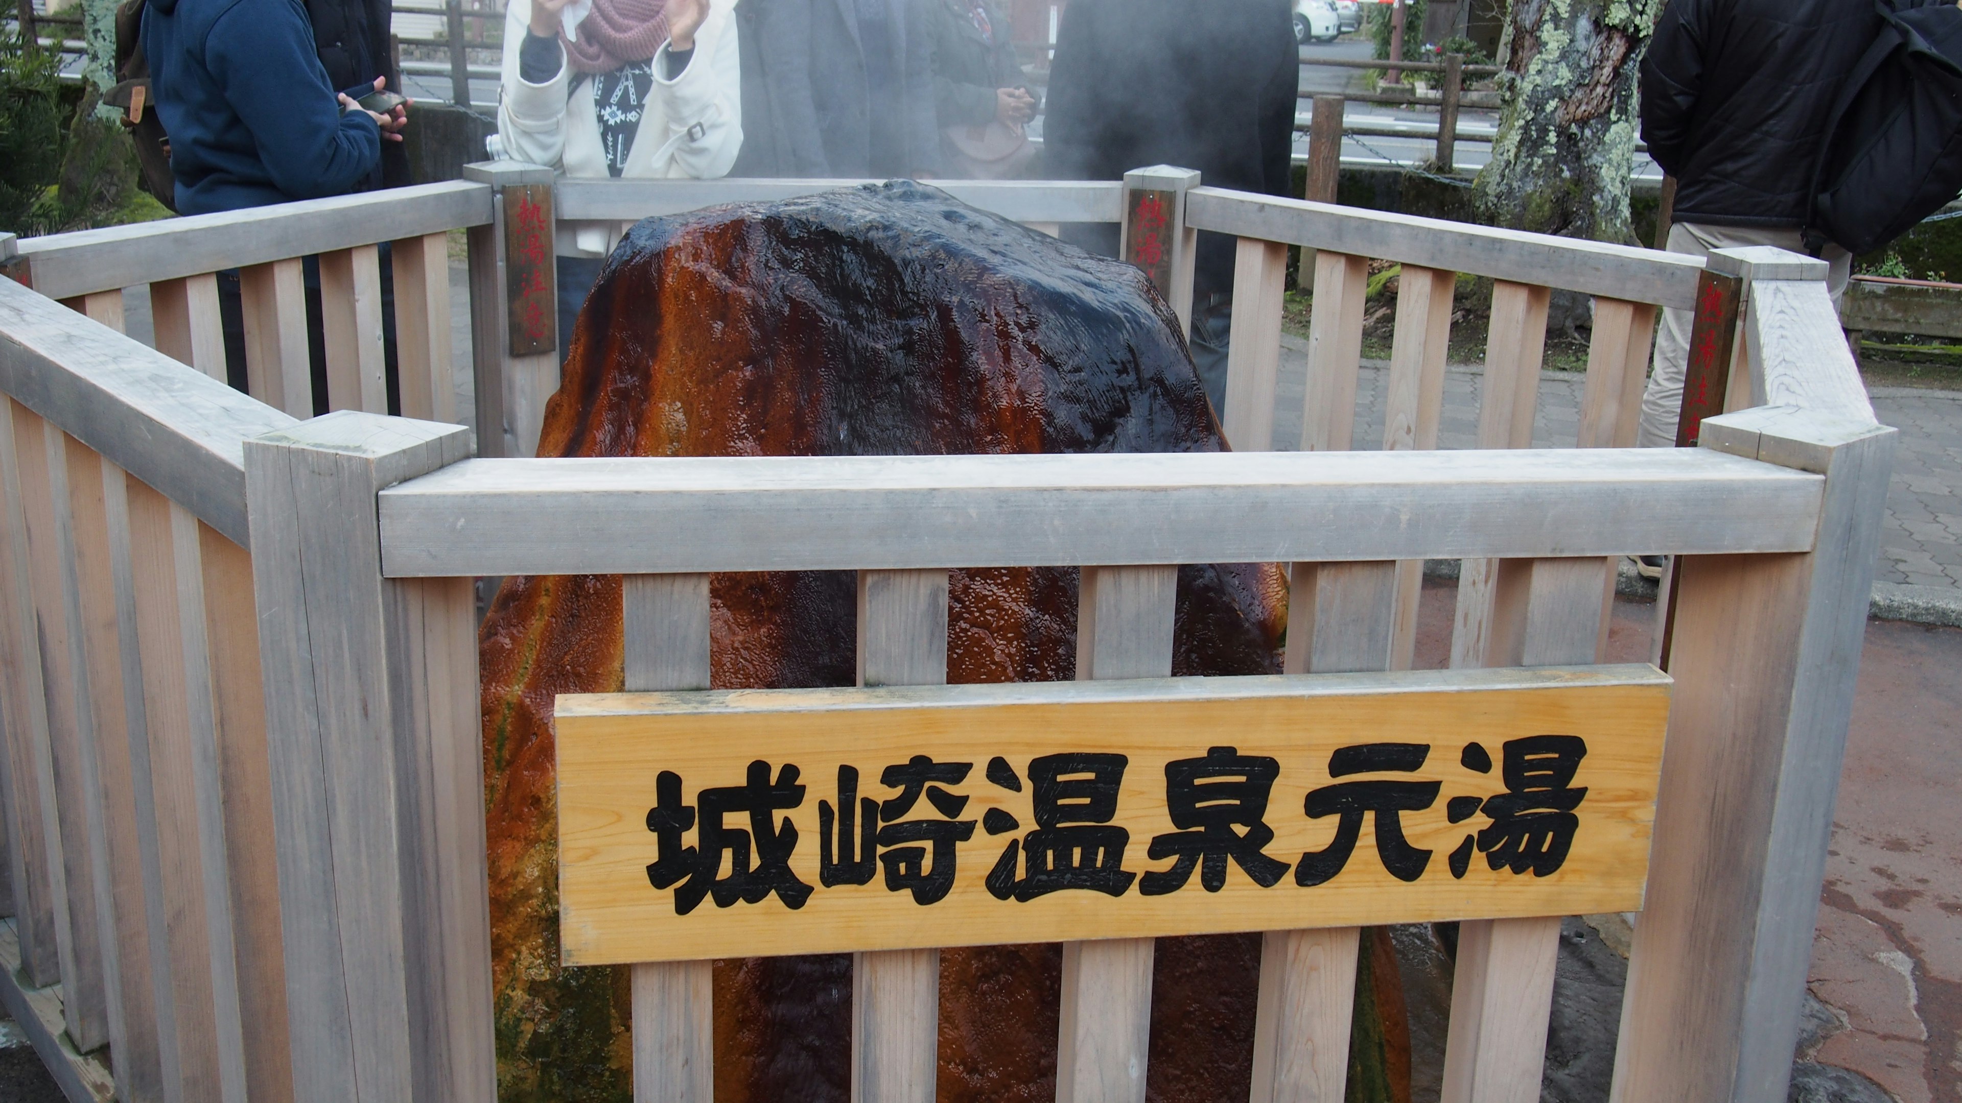
[[[63,901],[55,903],[55,922],[67,928],[67,940],[61,940],[57,926],[63,1005],[75,1044],[94,1050],[110,1036],[102,928],[96,922],[102,816],[86,650],[77,628],[80,595],[75,581],[75,532],[69,524],[69,465],[59,430],[20,402],[8,406],[14,414],[22,518],[27,522],[27,577],[33,581],[35,626],[41,634],[47,742],[55,769],[57,824],[49,828],[49,836],[61,840],[59,862],[65,873],[67,911]]]

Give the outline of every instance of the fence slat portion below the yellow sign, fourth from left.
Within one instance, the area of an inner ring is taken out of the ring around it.
[[[1360,944],[1360,926],[1269,930],[1262,938],[1254,1103],[1342,1099]]]

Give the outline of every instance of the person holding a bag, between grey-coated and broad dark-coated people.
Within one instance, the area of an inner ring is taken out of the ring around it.
[[[993,130],[1003,137],[1020,135],[1028,120],[1036,118],[1038,102],[1022,77],[1022,63],[1014,57],[1008,18],[987,0],[930,2],[936,14],[934,108],[940,118],[946,171],[950,177],[1014,175],[1008,165],[1026,161],[1022,149],[983,165],[969,159],[973,143],[963,149],[954,137],[955,128]],[[1022,145],[1026,147],[1026,139]]]

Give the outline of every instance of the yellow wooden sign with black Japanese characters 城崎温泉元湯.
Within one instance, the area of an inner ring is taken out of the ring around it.
[[[573,966],[1638,911],[1648,665],[559,697]]]

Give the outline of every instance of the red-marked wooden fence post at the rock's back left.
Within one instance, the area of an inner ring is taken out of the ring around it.
[[[559,389],[551,169],[483,161],[463,179],[492,190],[490,224],[469,232],[477,455],[530,457]]]

